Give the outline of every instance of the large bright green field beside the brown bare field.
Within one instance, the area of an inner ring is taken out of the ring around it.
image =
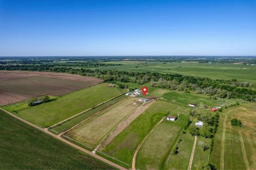
[[[18,115],[43,128],[51,126],[125,92],[124,89],[108,88],[108,84],[98,84],[60,96],[48,103],[18,110]],[[17,111],[12,105],[3,108],[8,110],[10,107],[10,112]]]

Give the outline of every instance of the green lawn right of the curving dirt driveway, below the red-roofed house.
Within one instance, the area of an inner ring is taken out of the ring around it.
[[[179,106],[172,108],[175,113],[181,110],[183,108]],[[178,141],[180,130],[183,129],[183,125],[187,121],[188,113],[189,111],[187,113],[184,111],[184,114],[181,114],[175,122],[165,120],[155,129],[138,152],[136,168],[163,169],[166,163],[170,164],[165,159],[171,155],[171,150]]]

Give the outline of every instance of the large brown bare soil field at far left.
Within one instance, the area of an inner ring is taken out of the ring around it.
[[[101,79],[67,73],[0,71],[0,106],[43,95],[60,96]]]

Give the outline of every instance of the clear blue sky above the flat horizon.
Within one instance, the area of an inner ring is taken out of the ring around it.
[[[256,1],[0,0],[0,56],[256,55]]]

